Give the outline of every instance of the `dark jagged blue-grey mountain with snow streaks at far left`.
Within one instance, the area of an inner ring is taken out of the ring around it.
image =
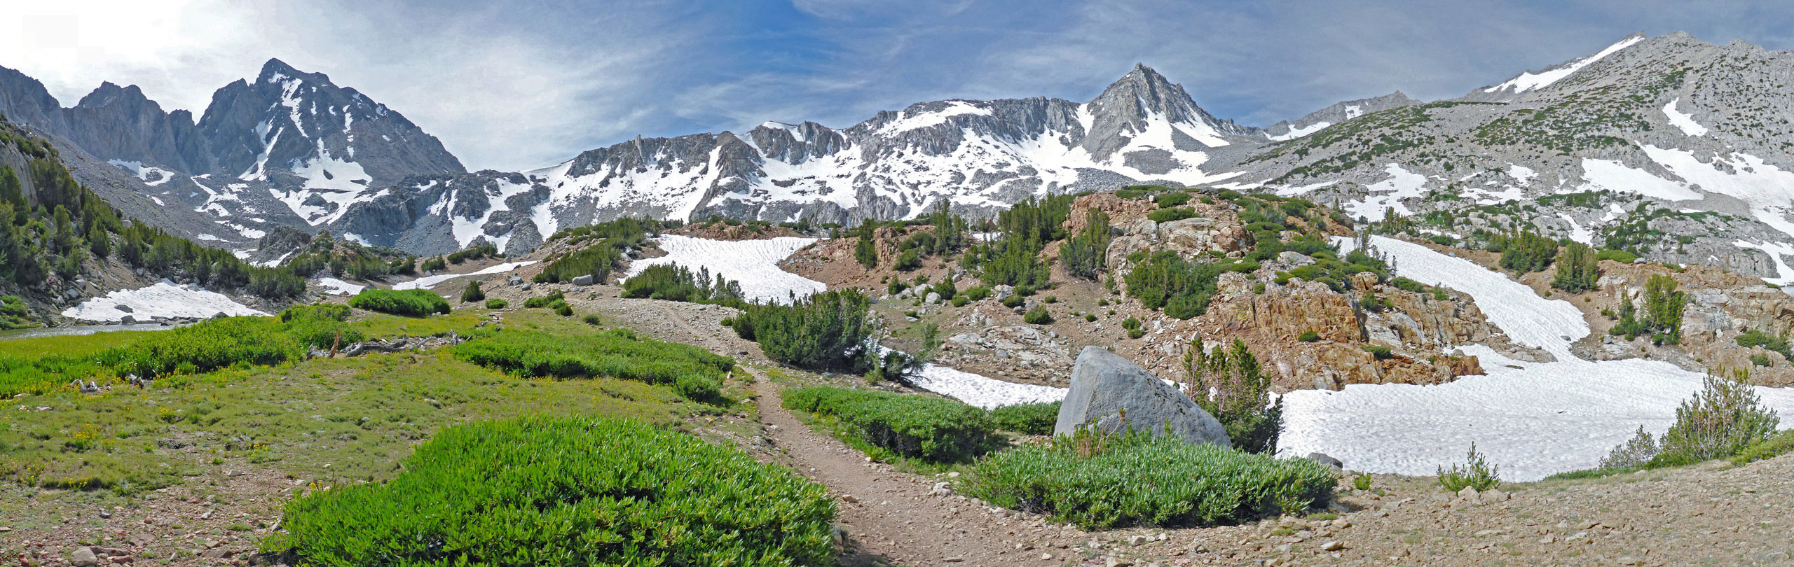
[[[111,83],[61,108],[36,79],[5,68],[0,113],[97,158],[75,163],[77,176],[109,176],[84,170],[108,163],[140,181],[131,192],[142,201],[208,221],[165,228],[239,251],[273,226],[327,228],[348,205],[373,201],[405,176],[465,172],[404,115],[278,59],[255,81],[219,88],[197,120]],[[115,206],[136,212],[133,203]]]

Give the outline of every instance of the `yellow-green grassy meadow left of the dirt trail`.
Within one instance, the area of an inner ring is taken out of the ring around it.
[[[149,391],[57,391],[16,404],[52,411],[0,423],[0,479],[118,493],[181,483],[212,458],[325,484],[386,479],[441,425],[544,407],[651,422],[714,411],[667,386],[508,377],[445,352],[178,375]]]

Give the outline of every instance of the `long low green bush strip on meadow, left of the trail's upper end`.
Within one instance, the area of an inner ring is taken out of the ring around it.
[[[497,330],[454,346],[454,357],[526,377],[614,377],[669,384],[682,397],[710,402],[736,361],[709,350],[640,339],[612,328],[592,336],[556,336],[540,330]]]

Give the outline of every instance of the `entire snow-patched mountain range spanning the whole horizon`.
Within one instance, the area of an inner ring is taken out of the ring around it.
[[[468,172],[395,109],[271,59],[196,120],[135,86],[63,108],[0,68],[0,113],[77,149],[127,214],[278,260],[330,230],[420,255],[506,253],[621,215],[811,221],[990,215],[1137,183],[1302,196],[1441,240],[1536,230],[1794,284],[1794,54],[1674,32],[1464,97],[1396,92],[1252,127],[1145,65],[1096,99],[935,100],[834,129],[635,138],[522,172]]]

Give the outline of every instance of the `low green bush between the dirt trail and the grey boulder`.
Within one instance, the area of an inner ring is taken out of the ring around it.
[[[784,407],[836,418],[854,440],[935,463],[976,458],[994,427],[983,409],[954,400],[852,388],[791,389]]]

